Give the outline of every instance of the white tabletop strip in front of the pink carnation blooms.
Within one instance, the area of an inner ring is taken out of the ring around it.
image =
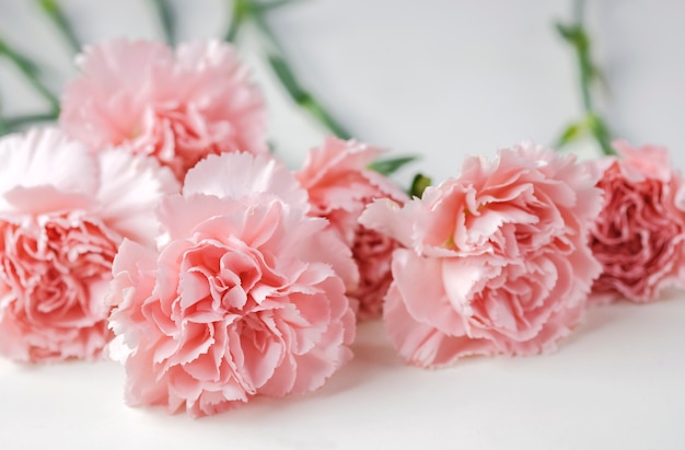
[[[121,402],[115,364],[0,362],[2,447],[159,449],[682,449],[685,298],[589,311],[559,351],[423,370],[380,323],[314,394],[194,420]]]

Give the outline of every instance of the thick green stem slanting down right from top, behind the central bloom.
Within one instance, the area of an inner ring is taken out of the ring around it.
[[[228,42],[234,42],[242,25],[246,21],[251,21],[259,31],[268,46],[266,54],[271,70],[292,101],[338,138],[350,139],[351,135],[349,131],[340,125],[333,114],[328,112],[309,90],[302,86],[290,62],[286,58],[286,54],[278,37],[274,34],[265,19],[265,14],[268,11],[292,3],[293,1],[294,0],[275,0],[271,2],[257,2],[255,0],[232,0],[233,12],[225,39]]]

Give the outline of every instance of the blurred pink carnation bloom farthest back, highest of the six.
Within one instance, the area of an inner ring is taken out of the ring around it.
[[[86,47],[78,64],[60,122],[92,149],[127,143],[178,181],[207,154],[267,151],[262,95],[229,44],[182,44],[174,54],[119,39]]]

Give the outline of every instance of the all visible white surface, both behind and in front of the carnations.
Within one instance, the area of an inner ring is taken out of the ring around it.
[[[221,0],[182,1],[184,37],[223,32]],[[685,3],[590,1],[614,129],[671,148],[685,169]],[[140,0],[63,0],[80,35],[159,36]],[[274,26],[298,72],[356,135],[442,180],[465,154],[525,138],[549,142],[579,114],[570,50],[552,23],[570,2],[310,0]],[[33,2],[0,0],[0,33],[46,61],[59,86],[69,54]],[[246,51],[246,58],[258,58]],[[301,162],[321,134],[257,73],[279,151]],[[39,108],[0,62],[5,113]],[[443,370],[402,366],[380,324],[357,358],[315,394],[259,400],[193,420],[126,407],[114,364],[0,361],[2,448],[680,449],[685,448],[685,295],[592,309],[558,353],[472,358]]]

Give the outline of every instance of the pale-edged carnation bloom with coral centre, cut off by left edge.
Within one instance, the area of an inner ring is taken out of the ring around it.
[[[152,244],[151,208],[176,181],[154,160],[92,155],[56,129],[2,138],[0,170],[0,353],[100,356],[117,246],[125,236]]]

